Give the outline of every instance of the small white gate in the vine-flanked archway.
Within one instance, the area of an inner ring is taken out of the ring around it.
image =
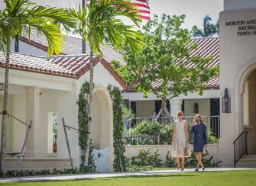
[[[109,172],[109,146],[104,149],[93,149],[94,163],[97,172]]]

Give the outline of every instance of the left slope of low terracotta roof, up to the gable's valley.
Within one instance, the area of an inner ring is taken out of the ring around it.
[[[5,55],[0,52],[0,67],[5,67]],[[57,66],[47,59],[36,56],[29,56],[21,53],[11,53],[10,69],[18,69],[28,72],[39,72],[50,75],[60,75],[75,78],[76,74],[69,69]]]

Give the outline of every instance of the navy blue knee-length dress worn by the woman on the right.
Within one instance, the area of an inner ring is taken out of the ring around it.
[[[196,124],[190,130],[193,133],[194,152],[203,152],[203,146],[208,143],[206,124]]]

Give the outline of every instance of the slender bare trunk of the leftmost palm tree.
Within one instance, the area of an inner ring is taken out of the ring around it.
[[[4,103],[2,111],[2,133],[1,133],[1,149],[0,149],[0,170],[3,171],[4,152],[5,152],[5,139],[6,139],[6,125],[7,125],[7,101],[8,101],[8,76],[9,76],[9,63],[11,53],[11,42],[7,41],[6,61],[5,61],[5,89],[4,89]]]

